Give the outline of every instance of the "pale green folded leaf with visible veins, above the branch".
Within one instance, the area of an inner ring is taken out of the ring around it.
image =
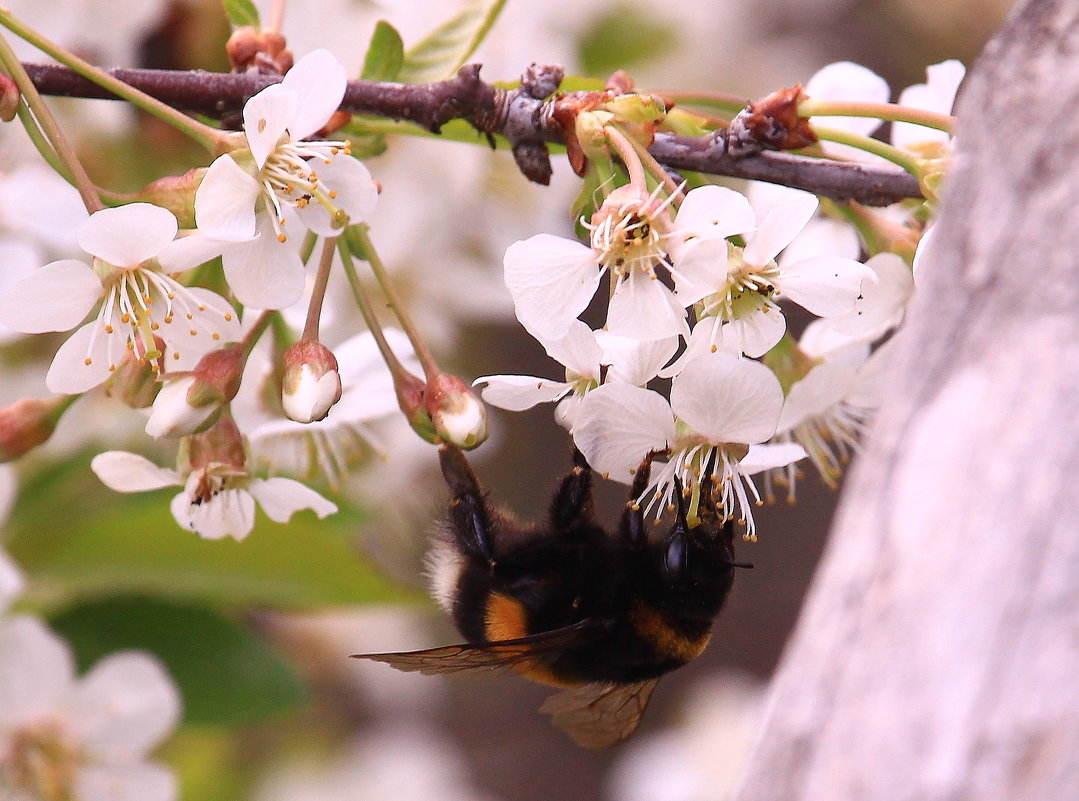
[[[483,41],[506,0],[472,0],[405,53],[398,80],[441,81],[454,72]]]

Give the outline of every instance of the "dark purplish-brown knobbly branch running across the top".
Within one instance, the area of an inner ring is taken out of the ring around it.
[[[480,133],[505,137],[522,173],[546,184],[550,176],[546,145],[564,144],[565,134],[551,114],[552,101],[543,98],[557,89],[561,71],[533,66],[520,89],[507,91],[480,80],[479,69],[479,65],[466,65],[453,78],[437,83],[350,81],[341,110],[413,122],[436,133],[451,120],[465,120]],[[28,64],[26,70],[42,94],[114,99],[110,92],[67,67]],[[247,98],[281,80],[256,72],[107,71],[174,108],[216,119],[236,114]],[[735,158],[727,152],[722,132],[702,137],[658,134],[650,151],[673,168],[771,181],[838,201],[857,200],[879,206],[921,196],[912,175],[889,166],[780,152]]]

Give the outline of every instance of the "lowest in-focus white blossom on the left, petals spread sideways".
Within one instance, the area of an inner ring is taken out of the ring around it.
[[[136,453],[109,450],[94,457],[91,467],[118,492],[182,487],[169,505],[173,517],[182,528],[207,540],[247,537],[255,527],[256,503],[275,522],[288,522],[295,513],[305,508],[319,518],[337,512],[336,504],[299,481],[256,478],[227,462],[209,462],[181,475]]]

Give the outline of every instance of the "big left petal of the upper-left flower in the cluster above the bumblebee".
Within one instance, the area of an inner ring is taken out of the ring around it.
[[[591,248],[547,233],[511,244],[503,263],[517,318],[541,340],[565,336],[602,274]]]

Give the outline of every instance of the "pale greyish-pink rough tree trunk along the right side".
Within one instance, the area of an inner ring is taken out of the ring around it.
[[[1028,0],[739,801],[1079,799],[1077,109],[1079,4]]]

